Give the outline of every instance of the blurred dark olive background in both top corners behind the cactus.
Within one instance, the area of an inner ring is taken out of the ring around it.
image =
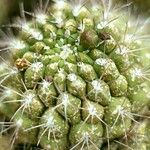
[[[0,24],[10,22],[13,16],[17,16],[19,12],[19,3],[23,2],[26,11],[33,9],[34,4],[39,0],[0,0]],[[43,0],[43,2],[46,0]],[[114,0],[115,2],[133,2],[133,6],[137,9],[138,14],[150,16],[150,0]]]

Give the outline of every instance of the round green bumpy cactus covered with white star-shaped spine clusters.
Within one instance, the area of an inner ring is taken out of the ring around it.
[[[11,148],[149,150],[150,52],[134,18],[105,3],[62,0],[30,15],[0,64]]]

